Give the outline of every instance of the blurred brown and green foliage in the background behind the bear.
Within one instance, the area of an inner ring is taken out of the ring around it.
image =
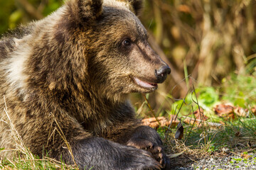
[[[62,4],[62,0],[0,0],[0,34],[41,19]],[[149,42],[172,73],[156,93],[134,94],[137,108],[146,97],[151,108],[171,110],[171,103],[185,98],[191,86],[203,86],[199,93],[206,105],[219,97],[230,97],[240,106],[256,102],[255,0],[145,0],[144,7],[140,18],[149,30]],[[253,93],[245,95],[244,89]]]

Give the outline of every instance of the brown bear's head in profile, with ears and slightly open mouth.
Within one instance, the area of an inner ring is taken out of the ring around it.
[[[55,38],[69,37],[64,38],[69,40],[66,44],[72,42],[75,47],[70,50],[79,52],[70,59],[75,63],[76,79],[84,81],[79,86],[107,98],[119,98],[152,92],[170,74],[169,66],[147,42],[146,29],[137,17],[141,8],[142,0],[67,1],[68,14]]]

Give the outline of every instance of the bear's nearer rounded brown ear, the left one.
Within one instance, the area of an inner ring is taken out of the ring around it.
[[[91,23],[102,14],[103,0],[71,0],[72,11],[78,21]]]

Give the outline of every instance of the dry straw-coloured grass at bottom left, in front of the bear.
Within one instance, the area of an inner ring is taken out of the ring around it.
[[[15,149],[4,149],[1,148],[0,152],[14,152],[14,158],[3,158],[0,157],[0,169],[78,169],[78,166],[75,165],[67,165],[63,162],[58,162],[55,159],[51,159],[49,157],[43,157],[39,159],[35,155],[33,155],[30,150],[24,145],[21,136],[18,134],[17,130],[14,127],[14,124],[11,122],[11,118],[9,117],[8,108],[6,106],[4,108],[4,114],[6,115],[6,120],[1,119],[2,122],[9,126],[9,132],[11,132],[11,137],[15,141]],[[58,124],[58,122],[55,120]],[[60,134],[63,134],[62,130],[58,126],[57,130]],[[63,137],[65,144],[67,144],[70,149],[70,145],[68,145],[67,140]],[[70,149],[70,153],[72,153]],[[73,155],[73,154],[72,154]]]

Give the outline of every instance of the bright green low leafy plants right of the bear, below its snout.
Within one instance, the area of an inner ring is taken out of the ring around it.
[[[193,113],[200,106],[206,111],[206,115],[210,113],[210,117],[214,118],[216,115],[213,115],[213,107],[220,102],[251,108],[256,106],[255,84],[254,75],[233,74],[230,78],[223,79],[221,86],[201,86],[191,91],[186,98],[175,101],[168,113],[181,117]]]

